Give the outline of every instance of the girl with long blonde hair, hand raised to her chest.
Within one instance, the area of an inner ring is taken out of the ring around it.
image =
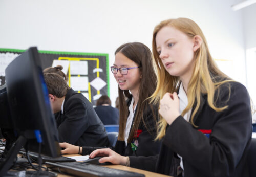
[[[159,156],[122,157],[98,149],[101,163],[172,176],[246,176],[251,141],[251,108],[241,83],[222,73],[212,59],[198,25],[187,18],[168,19],[155,27],[153,54],[160,102]]]

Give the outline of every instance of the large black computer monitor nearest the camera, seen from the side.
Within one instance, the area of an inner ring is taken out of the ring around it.
[[[40,148],[42,154],[60,156],[58,131],[37,49],[29,48],[15,58],[5,75],[12,122],[19,135],[12,153],[26,145],[30,151],[38,152]],[[7,168],[2,166],[0,175],[2,168]]]

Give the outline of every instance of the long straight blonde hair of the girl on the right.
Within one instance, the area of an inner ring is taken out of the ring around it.
[[[190,123],[196,127],[193,120],[200,106],[201,94],[207,94],[207,102],[209,106],[216,112],[221,112],[228,106],[226,105],[224,107],[217,107],[215,105],[214,94],[218,86],[224,82],[231,81],[231,79],[218,69],[216,63],[209,53],[208,45],[202,30],[193,20],[188,18],[164,20],[155,27],[153,32],[152,50],[158,73],[158,82],[156,91],[151,96],[152,102],[159,102],[166,92],[177,92],[181,82],[179,77],[171,76],[164,69],[164,65],[156,50],[156,35],[159,30],[165,26],[176,28],[191,38],[196,35],[199,35],[202,38],[202,44],[200,48],[194,53],[195,66],[193,75],[191,76],[191,79],[188,83],[187,90],[188,105],[181,113],[181,115],[184,116],[193,107],[194,110],[191,113]],[[161,118],[158,124],[158,135],[156,139],[161,139],[165,135],[167,122]]]

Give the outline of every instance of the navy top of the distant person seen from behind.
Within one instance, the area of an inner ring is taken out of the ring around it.
[[[94,108],[104,125],[118,125],[119,110],[112,106],[97,106]]]

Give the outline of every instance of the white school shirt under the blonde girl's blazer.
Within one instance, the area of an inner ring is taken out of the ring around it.
[[[183,112],[183,110],[187,107],[188,105],[188,99],[187,99],[187,94],[183,88],[183,84],[181,82],[180,84],[180,89],[179,89],[179,94],[178,94],[179,98],[180,98],[180,113]],[[191,109],[183,116],[183,118],[188,122],[189,118],[191,115]],[[184,170],[183,167],[183,161],[182,161],[182,157],[177,153],[178,157],[180,158],[180,167]]]

